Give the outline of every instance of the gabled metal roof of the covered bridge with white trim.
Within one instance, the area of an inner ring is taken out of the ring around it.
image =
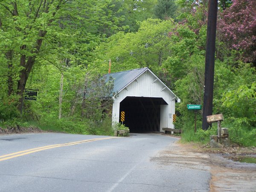
[[[163,86],[165,86],[175,96],[176,101],[180,102],[180,99],[175,95],[175,93],[173,93],[172,90],[170,90],[169,87],[163,83],[163,81],[161,81],[151,70],[149,70],[148,67],[105,74],[103,76],[105,83],[108,81],[113,81],[113,89],[109,93],[109,96],[115,96],[146,71],[149,71],[155,78],[157,78],[160,83],[163,84]]]

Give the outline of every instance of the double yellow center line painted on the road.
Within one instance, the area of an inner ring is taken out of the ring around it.
[[[114,139],[114,138],[118,138],[118,137],[104,137],[104,138],[76,141],[76,142],[71,142],[71,143],[47,145],[47,146],[38,147],[38,148],[31,148],[31,149],[28,149],[28,150],[25,150],[25,151],[18,151],[18,152],[15,152],[15,153],[2,155],[2,156],[0,156],[0,161],[12,159],[12,158],[15,158],[15,157],[20,157],[20,156],[23,156],[23,155],[26,155],[26,154],[35,153],[35,152],[43,151],[43,150],[50,149],[50,148],[64,147],[64,146],[70,146],[70,145],[77,145],[77,144],[80,144],[80,143],[88,143],[88,142],[92,142],[92,141],[108,140],[108,139]]]

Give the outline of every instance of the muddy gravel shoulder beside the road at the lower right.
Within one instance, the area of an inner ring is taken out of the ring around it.
[[[256,164],[255,163],[240,163],[229,160],[223,156],[250,154],[255,155],[255,148],[218,148],[210,149],[197,144],[176,143],[180,151],[175,151],[178,154],[186,151],[186,156],[183,156],[182,162],[191,162],[196,157],[196,163],[204,164],[210,167],[212,175],[210,181],[210,192],[256,192]]]

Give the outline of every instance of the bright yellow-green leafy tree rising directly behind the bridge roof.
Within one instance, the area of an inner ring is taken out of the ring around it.
[[[96,51],[102,53],[102,59],[93,65],[107,72],[108,60],[111,58],[113,72],[139,67],[151,67],[159,71],[170,53],[171,39],[168,38],[168,32],[172,29],[173,20],[145,20],[140,23],[138,32],[119,32],[99,46]]]

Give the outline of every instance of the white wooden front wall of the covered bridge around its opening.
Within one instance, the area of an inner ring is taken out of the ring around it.
[[[159,79],[146,71],[113,99],[112,124],[119,122],[120,102],[127,96],[163,98],[168,105],[160,106],[160,131],[162,128],[174,128],[172,115],[175,114],[175,95],[165,88]],[[161,91],[162,90],[162,91]]]

